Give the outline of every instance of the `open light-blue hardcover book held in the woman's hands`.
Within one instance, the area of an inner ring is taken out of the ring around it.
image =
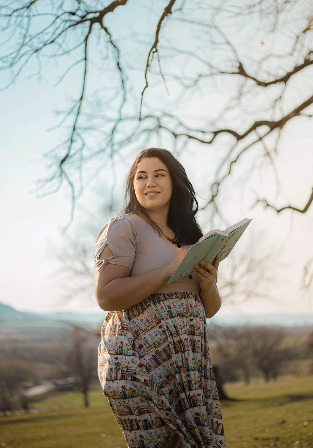
[[[212,264],[217,254],[221,255],[220,262],[228,257],[251,220],[244,218],[238,223],[227,227],[225,230],[215,228],[203,235],[199,241],[189,248],[187,254],[181,260],[167,284],[187,276],[189,273],[193,273],[193,268],[201,260]]]

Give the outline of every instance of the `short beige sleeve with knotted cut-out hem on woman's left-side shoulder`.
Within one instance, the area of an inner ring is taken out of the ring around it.
[[[127,218],[111,218],[101,229],[95,244],[94,268],[98,270],[103,264],[112,263],[133,267],[135,260],[137,233]],[[108,245],[113,255],[99,259],[104,247]]]

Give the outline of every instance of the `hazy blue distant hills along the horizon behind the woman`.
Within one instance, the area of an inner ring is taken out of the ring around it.
[[[81,325],[100,337],[100,329],[106,317],[102,313],[33,313],[17,311],[12,306],[0,303],[0,358],[6,357],[8,351],[19,349],[30,350],[38,344],[53,345],[56,342],[68,341],[73,335],[73,325]],[[304,336],[313,327],[313,314],[250,314],[222,315],[217,313],[211,319],[206,319],[208,329],[213,324],[227,327],[268,324],[281,325],[288,328],[289,334]]]

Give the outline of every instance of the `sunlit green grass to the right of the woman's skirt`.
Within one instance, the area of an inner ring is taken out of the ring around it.
[[[313,447],[313,375],[227,383],[225,392],[236,399],[221,404],[229,448]]]

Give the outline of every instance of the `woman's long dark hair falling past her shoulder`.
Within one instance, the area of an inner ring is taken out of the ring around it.
[[[167,216],[167,225],[173,230],[176,238],[167,237],[173,244],[181,243],[182,245],[194,244],[203,236],[202,230],[197,224],[195,215],[198,211],[198,202],[195,191],[190,183],[184,167],[172,155],[170,151],[160,148],[148,148],[141,151],[134,160],[129,174],[126,178],[126,190],[124,197],[123,214],[134,213],[141,216],[148,224],[150,224],[161,237],[162,230],[158,224],[149,218],[144,207],[138,202],[133,187],[133,180],[137,172],[137,165],[144,157],[159,157],[163,164],[166,165],[172,179],[172,197]],[[129,200],[127,199],[129,195]],[[193,205],[195,203],[195,209]]]

